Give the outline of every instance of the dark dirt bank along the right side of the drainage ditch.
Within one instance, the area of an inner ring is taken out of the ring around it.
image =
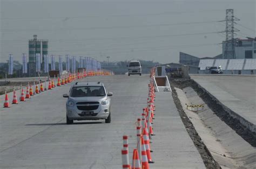
[[[203,90],[201,86],[198,85],[197,82],[191,79],[175,79],[171,80],[171,86],[177,87],[180,89],[184,89],[186,87],[192,87],[199,97],[208,105],[208,107],[214,111],[214,113],[224,121],[230,128],[232,128],[235,132],[238,133],[246,142],[256,147],[256,133],[250,131],[246,128],[245,125],[241,124],[238,119],[233,118],[230,114],[223,108],[223,105],[218,100],[213,100],[213,96],[208,94]],[[176,97],[177,98],[177,97]],[[182,107],[181,107],[182,108]]]

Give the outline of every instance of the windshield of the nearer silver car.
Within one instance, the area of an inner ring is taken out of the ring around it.
[[[71,97],[95,97],[105,96],[105,90],[103,86],[81,86],[73,87],[71,91]]]

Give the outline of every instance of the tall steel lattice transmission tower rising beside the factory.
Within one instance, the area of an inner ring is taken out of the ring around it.
[[[240,20],[234,17],[233,9],[226,9],[226,18],[225,20],[221,20],[221,22],[226,22],[226,29],[223,32],[226,32],[226,41],[225,41],[225,51],[224,51],[224,59],[235,59],[235,44],[236,41],[234,39],[234,32],[238,32],[239,30],[234,27],[234,20]]]

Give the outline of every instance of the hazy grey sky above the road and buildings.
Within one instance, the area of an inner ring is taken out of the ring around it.
[[[0,0],[0,62],[21,61],[33,34],[49,40],[49,55],[99,61],[179,61],[222,53],[226,9],[240,20],[238,38],[255,37],[255,0]]]

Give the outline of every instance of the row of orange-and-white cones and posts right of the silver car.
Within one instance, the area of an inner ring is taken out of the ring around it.
[[[123,168],[132,169],[148,169],[149,164],[154,163],[151,157],[151,139],[153,133],[153,119],[154,119],[154,85],[153,76],[155,69],[151,69],[150,83],[149,83],[149,96],[147,98],[147,107],[143,108],[142,118],[137,119],[137,147],[133,150],[132,164],[129,163],[129,145],[128,136],[123,136],[123,149],[122,149],[122,163]]]

